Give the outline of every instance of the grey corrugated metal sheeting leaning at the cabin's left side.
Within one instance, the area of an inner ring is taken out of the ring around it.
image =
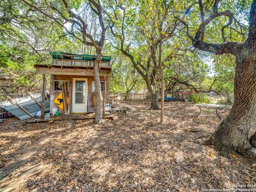
[[[39,102],[42,103],[42,94],[32,94],[33,97]],[[23,108],[29,111],[30,114],[35,116],[36,112],[41,110],[41,107],[29,96],[14,99],[15,102],[18,102]],[[12,113],[15,117],[18,117],[21,120],[31,118],[25,111],[20,109],[18,106],[13,105],[10,101],[4,101],[0,103],[0,107]],[[50,102],[45,100],[45,111],[50,111]]]

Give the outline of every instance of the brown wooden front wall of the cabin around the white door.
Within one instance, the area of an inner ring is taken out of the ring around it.
[[[57,108],[57,105],[53,102],[54,99],[60,94],[60,91],[54,91],[54,80],[59,81],[69,81],[69,83],[73,83],[73,78],[87,78],[87,86],[88,86],[88,98],[87,98],[87,105],[88,105],[88,111],[93,108],[93,94],[92,92],[92,82],[94,81],[93,76],[74,76],[74,75],[51,75],[51,88],[50,88],[50,109],[52,113],[53,108]],[[100,77],[100,81],[104,81],[104,77]],[[109,94],[110,94],[110,77],[106,77],[106,103],[110,102]],[[67,95],[69,95],[69,92],[67,92]],[[71,94],[70,99],[70,113],[72,113],[72,97],[73,94]],[[103,92],[102,92],[103,97]],[[60,113],[63,113],[61,109],[59,109]]]

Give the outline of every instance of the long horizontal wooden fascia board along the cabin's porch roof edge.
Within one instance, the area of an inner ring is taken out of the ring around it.
[[[51,74],[51,75],[83,75],[83,76],[93,76],[93,70],[86,70],[86,69],[68,69],[68,68],[43,68],[43,67],[36,67],[37,74]],[[99,72],[100,76],[111,76],[111,70]]]

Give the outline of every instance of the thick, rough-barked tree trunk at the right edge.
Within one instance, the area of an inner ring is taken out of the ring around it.
[[[228,155],[231,149],[256,161],[255,138],[251,143],[249,131],[256,123],[256,61],[255,55],[242,46],[236,56],[236,76],[234,84],[234,103],[228,117],[221,122],[210,138],[210,143]],[[206,143],[209,143],[206,142]],[[254,143],[254,144],[253,144]]]

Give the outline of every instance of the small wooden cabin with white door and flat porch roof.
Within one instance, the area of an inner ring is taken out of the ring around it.
[[[70,97],[70,113],[86,113],[93,111],[95,82],[93,77],[93,63],[95,55],[72,54],[63,52],[51,52],[52,62],[49,65],[35,65],[37,74],[51,75],[50,110],[57,108],[54,99],[62,91],[62,85],[66,84],[66,95]],[[109,99],[109,84],[111,76],[111,57],[103,56],[99,66],[101,79],[101,91],[106,87],[106,103]],[[106,85],[106,86],[104,86]],[[69,90],[71,88],[71,90]],[[63,113],[59,110],[59,113]]]

